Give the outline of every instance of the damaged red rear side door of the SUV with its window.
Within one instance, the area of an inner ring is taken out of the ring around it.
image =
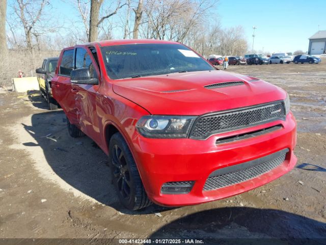
[[[75,94],[71,87],[70,71],[73,69],[73,48],[63,50],[59,58],[56,76],[52,79],[51,88],[53,98],[59,103],[71,124],[78,124]]]

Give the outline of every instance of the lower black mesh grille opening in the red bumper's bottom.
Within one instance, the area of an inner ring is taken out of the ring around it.
[[[207,178],[203,190],[215,190],[261,176],[280,166],[288,151],[284,149],[253,161],[215,170]]]

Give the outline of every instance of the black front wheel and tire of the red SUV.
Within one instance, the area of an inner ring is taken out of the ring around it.
[[[129,210],[150,206],[152,202],[147,197],[138,168],[120,133],[115,133],[110,140],[108,160],[120,202]]]

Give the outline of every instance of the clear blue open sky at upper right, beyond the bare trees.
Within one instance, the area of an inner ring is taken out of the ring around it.
[[[222,27],[243,26],[250,47],[256,26],[257,51],[308,51],[308,38],[318,31],[318,24],[319,30],[326,30],[325,0],[220,0],[213,12],[221,17]]]

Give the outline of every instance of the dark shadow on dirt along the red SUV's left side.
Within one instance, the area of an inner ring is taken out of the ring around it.
[[[33,96],[32,101],[35,98],[36,96]],[[36,104],[37,107],[43,108],[42,104],[46,105],[46,102],[40,101]],[[66,116],[62,110],[34,114],[32,126],[22,126],[36,140],[22,144],[32,151],[35,146],[40,146],[43,150],[46,161],[38,166],[42,167],[43,164],[43,167],[46,167],[48,164],[57,176],[73,188],[122,213],[139,215],[168,209],[156,205],[138,212],[125,209],[119,202],[112,184],[107,156],[89,137],[70,137],[66,129]]]

